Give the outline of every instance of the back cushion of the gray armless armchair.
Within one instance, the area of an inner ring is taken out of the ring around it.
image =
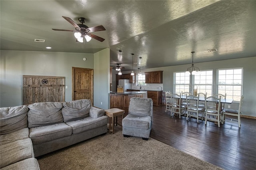
[[[150,116],[151,98],[136,98],[130,99],[128,114],[136,114],[139,116]]]

